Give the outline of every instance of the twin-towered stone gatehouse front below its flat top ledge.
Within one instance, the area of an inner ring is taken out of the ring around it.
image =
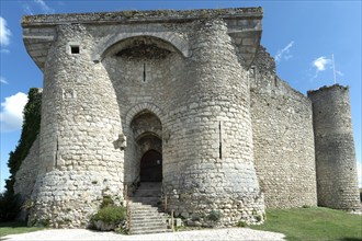
[[[149,149],[162,152],[169,208],[197,220],[190,225],[207,225],[213,209],[224,215],[220,225],[263,221],[242,67],[259,43],[260,13],[236,12],[240,22],[218,14],[104,25],[79,15],[78,23],[44,26],[34,16],[37,31],[23,22],[34,34],[27,50],[44,67],[31,225],[87,226],[105,193],[122,202],[123,184],[138,182]],[[37,53],[35,38],[53,44]]]

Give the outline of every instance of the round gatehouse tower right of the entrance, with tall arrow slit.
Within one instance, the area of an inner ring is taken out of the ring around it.
[[[194,26],[188,76],[169,115],[173,128],[167,126],[165,193],[189,225],[207,225],[213,210],[225,225],[262,221],[246,70],[223,20]],[[173,151],[167,151],[170,146]]]

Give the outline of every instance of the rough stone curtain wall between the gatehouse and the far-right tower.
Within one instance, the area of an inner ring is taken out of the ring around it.
[[[249,78],[254,162],[265,206],[316,206],[310,101],[279,79],[262,46]]]

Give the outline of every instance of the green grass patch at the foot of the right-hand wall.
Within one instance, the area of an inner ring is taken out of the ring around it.
[[[362,241],[362,216],[323,207],[271,209],[256,230],[282,232],[286,240]]]

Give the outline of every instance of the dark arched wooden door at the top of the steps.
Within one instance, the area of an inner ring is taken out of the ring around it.
[[[140,182],[162,182],[162,156],[160,152],[149,150],[142,157]]]

